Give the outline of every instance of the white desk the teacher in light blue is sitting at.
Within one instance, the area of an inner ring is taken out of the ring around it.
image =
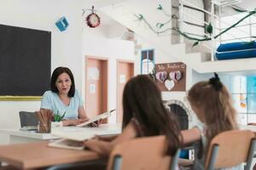
[[[38,142],[49,139],[60,139],[54,133],[73,136],[75,139],[91,138],[95,135],[112,135],[121,133],[121,124],[102,124],[100,127],[58,127],[52,133],[35,133],[20,131],[20,129],[0,129],[0,133],[9,134],[9,144]]]

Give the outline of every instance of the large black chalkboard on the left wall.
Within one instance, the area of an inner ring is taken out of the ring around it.
[[[49,89],[51,32],[0,25],[0,96]]]

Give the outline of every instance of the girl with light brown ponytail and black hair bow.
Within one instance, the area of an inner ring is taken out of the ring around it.
[[[203,170],[205,156],[207,156],[208,144],[218,133],[238,129],[236,121],[237,113],[232,106],[232,99],[218,75],[209,81],[197,82],[189,89],[187,96],[192,110],[202,126],[183,131],[183,143],[189,144],[201,140],[201,151],[195,157],[193,169]],[[233,167],[230,169],[239,169]]]

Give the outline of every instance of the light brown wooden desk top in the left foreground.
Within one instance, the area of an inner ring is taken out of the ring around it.
[[[47,146],[48,142],[0,146],[0,161],[20,169],[48,167],[100,158],[90,150],[67,150]]]

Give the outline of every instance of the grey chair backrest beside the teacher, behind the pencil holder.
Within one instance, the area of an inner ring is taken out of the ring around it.
[[[38,117],[35,112],[20,111],[20,127],[37,126]]]

